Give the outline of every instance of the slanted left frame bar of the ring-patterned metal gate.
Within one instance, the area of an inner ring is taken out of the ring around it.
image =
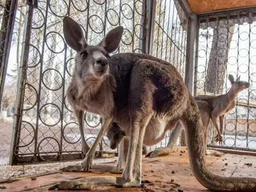
[[[17,83],[17,97],[15,108],[17,109],[16,114],[13,119],[13,134],[12,134],[12,144],[10,151],[10,161],[9,164],[15,164],[15,154],[18,154],[19,148],[19,137],[22,121],[22,107],[24,101],[24,93],[26,86],[26,75],[27,75],[27,66],[28,66],[28,56],[29,56],[29,43],[31,36],[31,26],[32,26],[32,15],[33,15],[33,6],[27,6],[26,10],[26,19],[25,19],[25,30],[24,30],[24,43],[22,45],[22,67],[19,69],[19,79]]]

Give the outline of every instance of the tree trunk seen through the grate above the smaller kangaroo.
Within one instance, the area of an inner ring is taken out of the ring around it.
[[[225,21],[220,21],[225,22]],[[220,23],[221,26],[221,23]],[[222,94],[230,41],[232,40],[234,26],[213,29],[211,52],[208,61],[205,79],[205,92]],[[229,31],[229,33],[228,33]]]

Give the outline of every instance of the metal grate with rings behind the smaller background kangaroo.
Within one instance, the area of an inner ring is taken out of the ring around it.
[[[256,10],[243,10],[198,18],[196,95],[228,92],[228,74],[248,81],[239,92],[237,106],[225,116],[225,148],[256,150]],[[212,127],[212,126],[211,126]],[[210,146],[216,132],[209,129]]]

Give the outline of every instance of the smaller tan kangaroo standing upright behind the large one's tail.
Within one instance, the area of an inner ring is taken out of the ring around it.
[[[236,96],[239,92],[250,86],[250,83],[246,81],[240,81],[240,76],[234,81],[234,77],[230,74],[228,79],[231,83],[230,90],[223,95],[213,96],[213,95],[197,95],[195,96],[196,103],[200,110],[200,114],[203,122],[204,136],[205,136],[205,153],[210,154],[211,151],[206,150],[207,145],[207,132],[210,120],[214,125],[218,135],[215,140],[220,143],[224,143],[223,137],[223,119],[225,114],[236,106]],[[220,129],[218,129],[217,118],[220,118]],[[157,148],[153,152],[150,152],[147,156],[165,156],[170,154],[175,147],[177,140],[179,138],[182,127],[175,127],[175,131],[172,132],[167,147]]]

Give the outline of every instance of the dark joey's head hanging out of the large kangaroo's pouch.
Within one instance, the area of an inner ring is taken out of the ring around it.
[[[122,141],[125,136],[125,131],[119,127],[118,124],[113,123],[111,127],[109,127],[107,132],[107,137],[110,141],[110,148],[115,149],[118,144]]]

